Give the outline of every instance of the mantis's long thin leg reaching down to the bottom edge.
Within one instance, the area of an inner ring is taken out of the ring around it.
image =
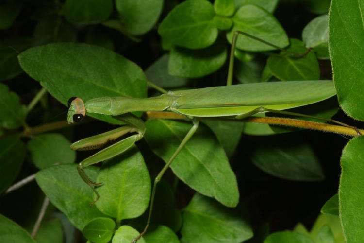
[[[153,189],[152,189],[152,194],[151,194],[151,198],[150,198],[150,206],[149,206],[149,214],[148,214],[148,220],[147,220],[147,224],[144,227],[144,230],[138,235],[138,237],[136,237],[135,239],[132,240],[132,243],[136,243],[147,231],[148,226],[150,224],[150,219],[151,219],[151,214],[152,214],[152,210],[153,210],[153,204],[154,204],[154,197],[155,197],[155,191],[157,189],[157,184],[158,182],[161,180],[163,174],[165,174],[165,171],[168,169],[168,167],[171,165],[171,163],[173,162],[173,160],[176,158],[176,156],[180,153],[180,151],[182,150],[183,146],[188,142],[189,139],[191,139],[191,137],[195,134],[197,128],[199,127],[199,121],[197,120],[193,120],[193,126],[191,127],[191,129],[188,131],[188,133],[186,134],[186,136],[183,138],[182,142],[180,143],[180,145],[177,147],[176,151],[173,153],[173,155],[169,158],[168,162],[165,164],[165,166],[162,168],[162,170],[158,173],[157,177],[155,177],[154,179],[154,184],[153,184]]]

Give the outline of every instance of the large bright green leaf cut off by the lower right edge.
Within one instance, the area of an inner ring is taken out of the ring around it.
[[[351,139],[341,156],[339,211],[347,243],[364,239],[364,136]]]

